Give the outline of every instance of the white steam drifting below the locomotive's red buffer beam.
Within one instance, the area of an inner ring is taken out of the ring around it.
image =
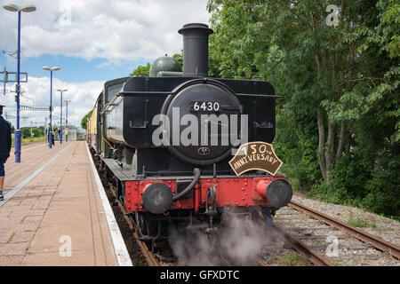
[[[186,233],[170,227],[169,243],[174,255],[178,257],[178,264],[256,264],[255,256],[270,242],[264,226],[232,214],[224,214],[223,220],[224,224],[211,238],[204,230]]]

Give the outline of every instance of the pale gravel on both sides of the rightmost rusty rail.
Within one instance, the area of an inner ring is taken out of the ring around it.
[[[398,243],[399,225],[395,220],[364,212],[361,209],[309,200],[299,196],[293,196],[293,201],[324,212],[324,214],[340,219],[342,222],[348,223],[348,219],[350,218],[367,220],[375,227],[363,227],[361,228],[362,230],[380,236],[382,239],[385,236],[385,241],[395,242],[396,240]],[[300,241],[304,241],[310,248],[313,248],[322,256],[330,259],[333,264],[345,266],[400,265],[399,260],[388,256],[387,253],[381,252],[367,243],[358,241],[348,233],[343,233],[331,225],[325,225],[323,221],[309,217],[295,209],[289,207],[279,209],[276,212],[274,222],[284,227]],[[328,241],[328,237],[336,238],[338,241],[337,256],[326,255],[327,248],[332,243]]]

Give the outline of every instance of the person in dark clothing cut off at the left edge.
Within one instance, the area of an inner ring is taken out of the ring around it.
[[[4,200],[4,163],[7,161],[8,157],[10,157],[11,150],[11,126],[2,116],[3,107],[4,106],[0,105],[0,201]]]

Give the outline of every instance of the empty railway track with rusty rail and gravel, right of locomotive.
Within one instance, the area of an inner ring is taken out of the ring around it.
[[[332,264],[400,264],[396,245],[295,201],[277,211],[274,223],[286,228],[320,255],[327,256]],[[328,254],[328,240],[336,241],[336,254]]]

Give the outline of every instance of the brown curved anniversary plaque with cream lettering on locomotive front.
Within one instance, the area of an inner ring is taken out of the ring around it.
[[[272,145],[260,141],[240,146],[235,157],[229,161],[236,176],[249,170],[263,170],[275,175],[282,164],[283,162],[276,156]]]

